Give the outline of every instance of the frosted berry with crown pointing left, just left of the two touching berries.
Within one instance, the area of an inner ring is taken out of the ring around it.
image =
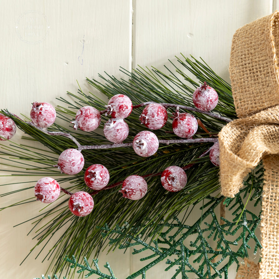
[[[96,108],[85,106],[78,110],[75,121],[71,123],[74,124],[75,130],[80,128],[82,131],[92,132],[99,127],[101,115]]]

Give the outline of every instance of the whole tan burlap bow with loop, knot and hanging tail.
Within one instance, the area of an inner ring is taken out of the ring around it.
[[[250,270],[241,278],[279,278],[278,20],[276,11],[238,29],[232,39],[229,71],[239,119],[219,133],[221,193],[234,197],[261,159],[265,168],[262,259],[258,274]]]

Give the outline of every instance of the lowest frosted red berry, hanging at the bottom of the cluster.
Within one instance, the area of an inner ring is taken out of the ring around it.
[[[87,192],[79,191],[69,198],[69,209],[74,215],[86,216],[91,213],[93,206],[93,198]]]

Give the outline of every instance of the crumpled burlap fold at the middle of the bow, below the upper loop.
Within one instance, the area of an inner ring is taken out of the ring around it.
[[[279,105],[228,123],[219,144],[221,193],[234,197],[263,156],[279,153]]]

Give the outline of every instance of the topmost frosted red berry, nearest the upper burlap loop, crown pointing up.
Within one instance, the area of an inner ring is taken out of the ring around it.
[[[201,111],[210,111],[214,109],[218,103],[218,94],[212,87],[206,85],[206,82],[204,82],[204,85],[201,85],[194,91],[193,103],[196,108]]]

